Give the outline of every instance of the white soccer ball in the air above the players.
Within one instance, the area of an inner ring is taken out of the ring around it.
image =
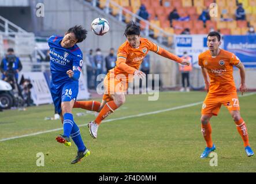
[[[95,34],[102,36],[109,31],[109,22],[105,18],[95,18],[91,22],[91,29]]]

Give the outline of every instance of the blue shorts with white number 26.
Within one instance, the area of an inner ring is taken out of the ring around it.
[[[51,97],[58,114],[61,113],[61,102],[70,102],[72,99],[76,101],[78,94],[78,81],[66,82],[62,85],[55,85],[51,82]]]

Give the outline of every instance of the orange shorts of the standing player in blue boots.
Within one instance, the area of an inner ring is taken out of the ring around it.
[[[224,105],[229,111],[240,110],[238,94],[214,95],[208,93],[203,102],[201,113],[217,116],[221,105]]]

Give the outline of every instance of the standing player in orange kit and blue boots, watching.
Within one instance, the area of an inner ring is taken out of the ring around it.
[[[218,32],[210,32],[207,36],[207,47],[209,49],[198,56],[198,64],[202,68],[205,88],[208,92],[201,112],[201,131],[207,145],[201,158],[207,158],[210,152],[216,150],[212,141],[212,128],[209,121],[212,116],[218,115],[221,105],[224,105],[231,113],[236,128],[243,139],[247,156],[253,156],[254,153],[249,144],[246,123],[240,116],[238,95],[233,80],[233,66],[236,66],[240,70],[240,92],[243,95],[247,91],[244,65],[233,53],[220,49],[220,45],[220,34]]]

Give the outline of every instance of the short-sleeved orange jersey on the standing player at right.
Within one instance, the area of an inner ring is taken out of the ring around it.
[[[198,56],[198,64],[206,68],[210,77],[209,93],[223,95],[236,92],[233,66],[240,64],[240,60],[233,53],[220,49],[218,56],[213,57],[207,50]]]

